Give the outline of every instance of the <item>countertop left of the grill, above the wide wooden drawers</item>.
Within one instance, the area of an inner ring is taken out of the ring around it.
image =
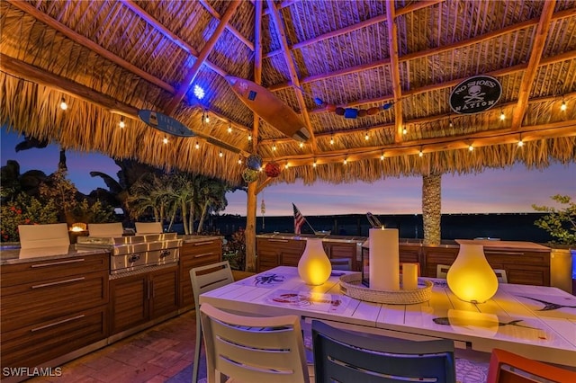
[[[6,264],[40,262],[108,253],[109,251],[106,249],[94,248],[79,250],[76,249],[74,245],[39,247],[33,249],[21,249],[19,247],[10,246],[8,249],[3,248],[2,252],[0,252],[0,266]]]

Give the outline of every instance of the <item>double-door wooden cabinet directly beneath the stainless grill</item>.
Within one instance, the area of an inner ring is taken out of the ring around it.
[[[178,266],[149,269],[110,281],[111,334],[177,312]]]

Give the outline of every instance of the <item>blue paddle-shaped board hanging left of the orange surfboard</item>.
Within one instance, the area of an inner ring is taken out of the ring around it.
[[[188,129],[182,122],[175,120],[170,116],[166,116],[166,114],[160,113],[159,111],[140,110],[138,111],[138,117],[140,120],[146,122],[148,126],[164,133],[178,137],[202,138],[216,147],[221,147],[222,149],[229,150],[232,153],[241,154],[242,156],[249,156],[249,153],[246,151],[238,149],[238,147],[232,147],[226,142],[220,141],[220,139],[194,132],[192,129]]]

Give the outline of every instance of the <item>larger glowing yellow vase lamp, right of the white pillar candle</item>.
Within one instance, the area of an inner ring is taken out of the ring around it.
[[[466,302],[486,302],[498,289],[498,278],[486,261],[482,245],[460,244],[446,281],[455,296]]]

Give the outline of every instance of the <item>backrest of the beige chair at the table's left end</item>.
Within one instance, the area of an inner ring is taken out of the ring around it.
[[[194,267],[190,270],[190,281],[192,283],[196,314],[198,314],[200,312],[198,311],[200,294],[232,283],[234,277],[232,276],[229,262],[223,261]]]

